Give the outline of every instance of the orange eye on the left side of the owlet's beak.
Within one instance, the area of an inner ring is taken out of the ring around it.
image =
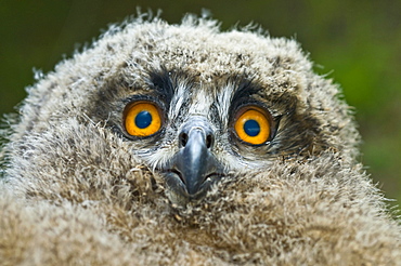
[[[125,127],[132,136],[150,136],[160,130],[160,112],[151,102],[137,102],[126,110]]]

